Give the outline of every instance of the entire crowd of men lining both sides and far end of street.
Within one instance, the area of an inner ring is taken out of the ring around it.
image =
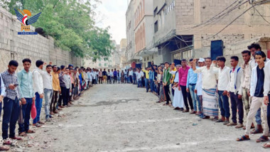
[[[43,100],[45,121],[51,121],[54,114],[79,99],[84,90],[102,83],[131,83],[145,87],[146,92],[158,96],[158,103],[165,102],[163,105],[195,114],[201,119],[212,119],[217,123],[245,129],[244,136],[237,141],[250,140],[249,134],[262,134],[257,142],[269,141],[270,62],[259,44],[252,43],[248,49],[242,52],[242,65],[239,65],[237,56],[230,58],[231,67],[227,67],[226,58],[220,56],[216,60],[183,59],[180,65],[151,63],[146,68],[136,67],[121,72],[117,69],[106,71],[73,65],[58,67],[37,60],[36,68],[31,71],[32,62],[26,58],[22,60],[23,70],[16,72],[18,62],[11,60],[8,70],[0,75],[0,107],[4,104],[4,146],[0,146],[0,150],[7,151],[9,147],[5,145],[11,145],[12,140],[19,141],[22,140],[20,136],[35,133],[29,127],[31,117],[33,126],[45,124],[41,120]],[[244,109],[247,114],[246,126],[243,124]],[[36,113],[34,117],[33,113]],[[254,117],[257,127],[253,123]],[[18,136],[15,133],[17,121]],[[270,148],[270,143],[265,143],[263,147]]]

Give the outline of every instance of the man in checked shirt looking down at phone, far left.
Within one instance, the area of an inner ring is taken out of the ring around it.
[[[16,60],[11,60],[8,67],[8,70],[1,73],[1,77],[6,87],[2,122],[2,137],[4,140],[4,145],[11,145],[11,141],[6,140],[8,138],[22,140],[21,138],[15,136],[16,122],[20,112],[19,104],[21,104],[19,101],[19,99],[21,99],[21,92],[18,89],[18,78],[15,73],[18,67],[18,62]],[[24,104],[26,103],[24,102]]]

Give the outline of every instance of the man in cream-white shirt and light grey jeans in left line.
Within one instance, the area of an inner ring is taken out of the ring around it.
[[[50,101],[53,97],[53,76],[50,74],[52,71],[52,65],[46,66],[46,71],[42,71],[41,75],[43,78],[43,87],[44,87],[44,99],[45,99],[45,119],[50,121]]]

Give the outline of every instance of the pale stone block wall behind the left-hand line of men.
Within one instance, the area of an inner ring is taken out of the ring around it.
[[[23,58],[32,60],[32,69],[36,60],[43,60],[46,63],[53,62],[53,65],[82,65],[81,58],[75,57],[68,51],[56,48],[54,40],[50,36],[45,38],[40,35],[18,35],[21,31],[21,23],[16,16],[0,7],[0,72],[6,69],[9,60],[17,60],[18,70],[22,69]],[[31,31],[35,27],[31,26]]]

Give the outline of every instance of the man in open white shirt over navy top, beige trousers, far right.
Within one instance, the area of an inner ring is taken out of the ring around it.
[[[262,51],[257,51],[255,54],[256,63],[258,64],[252,69],[252,77],[250,83],[250,96],[252,98],[252,105],[247,116],[247,126],[244,136],[237,139],[237,141],[247,141],[249,140],[250,126],[252,126],[252,121],[256,115],[258,109],[261,107],[264,114],[264,134],[259,139],[257,143],[269,141],[268,131],[269,126],[267,123],[267,106],[264,104],[264,97],[268,97],[269,92],[264,94],[264,61],[266,60],[266,55]],[[266,96],[265,96],[266,95]]]

